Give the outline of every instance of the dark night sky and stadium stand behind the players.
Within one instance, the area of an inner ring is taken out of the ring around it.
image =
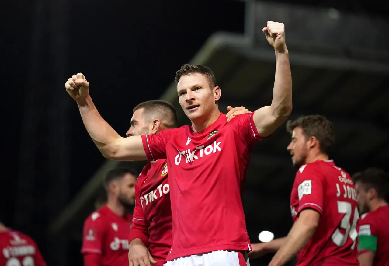
[[[261,29],[286,24],[295,118],[328,116],[335,162],[389,170],[388,11],[371,1],[4,1],[0,219],[37,240],[49,265],[81,265],[81,228],[102,191],[106,161],[65,81],[83,72],[102,116],[124,136],[132,107],[165,99],[183,63],[210,66],[227,105],[271,102],[274,53]],[[386,9],[387,10],[387,9]],[[244,195],[247,229],[284,236],[295,170],[281,127],[258,144]],[[143,163],[133,164],[140,169]],[[233,228],[231,228],[233,230]],[[252,261],[267,265],[270,255]],[[293,262],[290,263],[293,265]]]

